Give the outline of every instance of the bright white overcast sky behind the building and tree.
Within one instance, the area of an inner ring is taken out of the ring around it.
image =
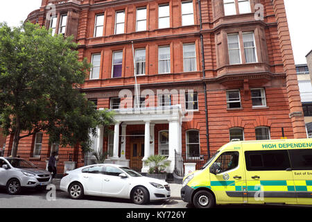
[[[28,14],[40,8],[42,0],[0,0],[0,22],[19,26]],[[312,0],[284,0],[291,32],[296,64],[306,63],[306,54],[312,49]]]

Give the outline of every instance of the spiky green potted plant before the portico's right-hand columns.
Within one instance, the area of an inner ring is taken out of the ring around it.
[[[148,164],[150,168],[148,169],[146,176],[166,180],[166,167],[170,165],[170,162],[167,162],[166,160],[167,157],[164,155],[151,155],[148,157],[146,164]]]

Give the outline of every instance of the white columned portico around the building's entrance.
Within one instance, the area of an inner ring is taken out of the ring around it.
[[[155,154],[155,124],[168,124],[168,161],[171,164],[167,168],[167,172],[172,173],[175,150],[182,151],[181,124],[184,113],[181,106],[171,105],[168,107],[131,108],[114,111],[116,112],[116,123],[114,124],[113,154],[106,162],[132,167],[137,166],[135,161],[139,160],[141,161],[141,172],[147,173],[149,167],[145,162],[150,155]],[[127,126],[137,125],[144,125],[144,132],[141,131],[142,133],[138,135],[127,132]],[[98,130],[99,133],[102,131]],[[119,135],[120,132],[121,135]],[[127,144],[127,142],[130,142],[130,144]],[[98,146],[102,144],[103,147],[103,135],[98,136],[97,144]]]

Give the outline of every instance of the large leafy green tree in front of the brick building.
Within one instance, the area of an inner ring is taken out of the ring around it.
[[[112,112],[96,110],[79,90],[90,65],[78,60],[77,47],[73,37],[35,24],[0,24],[0,127],[14,135],[13,156],[19,139],[38,132],[49,135],[50,144],[87,151],[89,133],[114,123]]]

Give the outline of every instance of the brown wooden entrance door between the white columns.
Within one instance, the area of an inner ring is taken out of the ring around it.
[[[131,142],[130,168],[141,171],[142,159],[144,157],[144,141]]]

